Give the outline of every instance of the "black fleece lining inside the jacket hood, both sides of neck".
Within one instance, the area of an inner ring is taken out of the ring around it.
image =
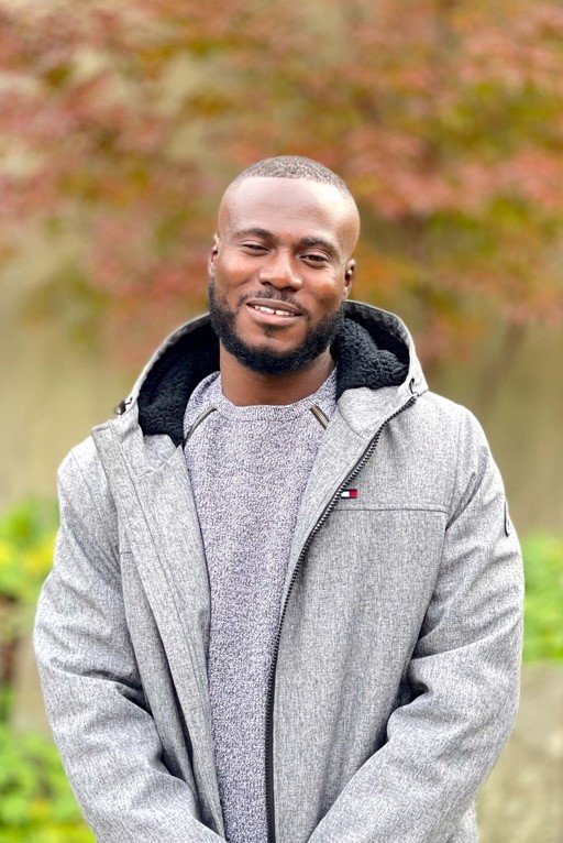
[[[375,322],[368,310],[364,315],[353,303],[346,307],[331,353],[338,362],[336,399],[346,390],[360,386],[398,386],[407,376],[406,344]],[[139,424],[145,436],[166,434],[180,445],[189,396],[198,383],[218,370],[219,342],[209,322],[179,337],[158,358],[141,386]]]

